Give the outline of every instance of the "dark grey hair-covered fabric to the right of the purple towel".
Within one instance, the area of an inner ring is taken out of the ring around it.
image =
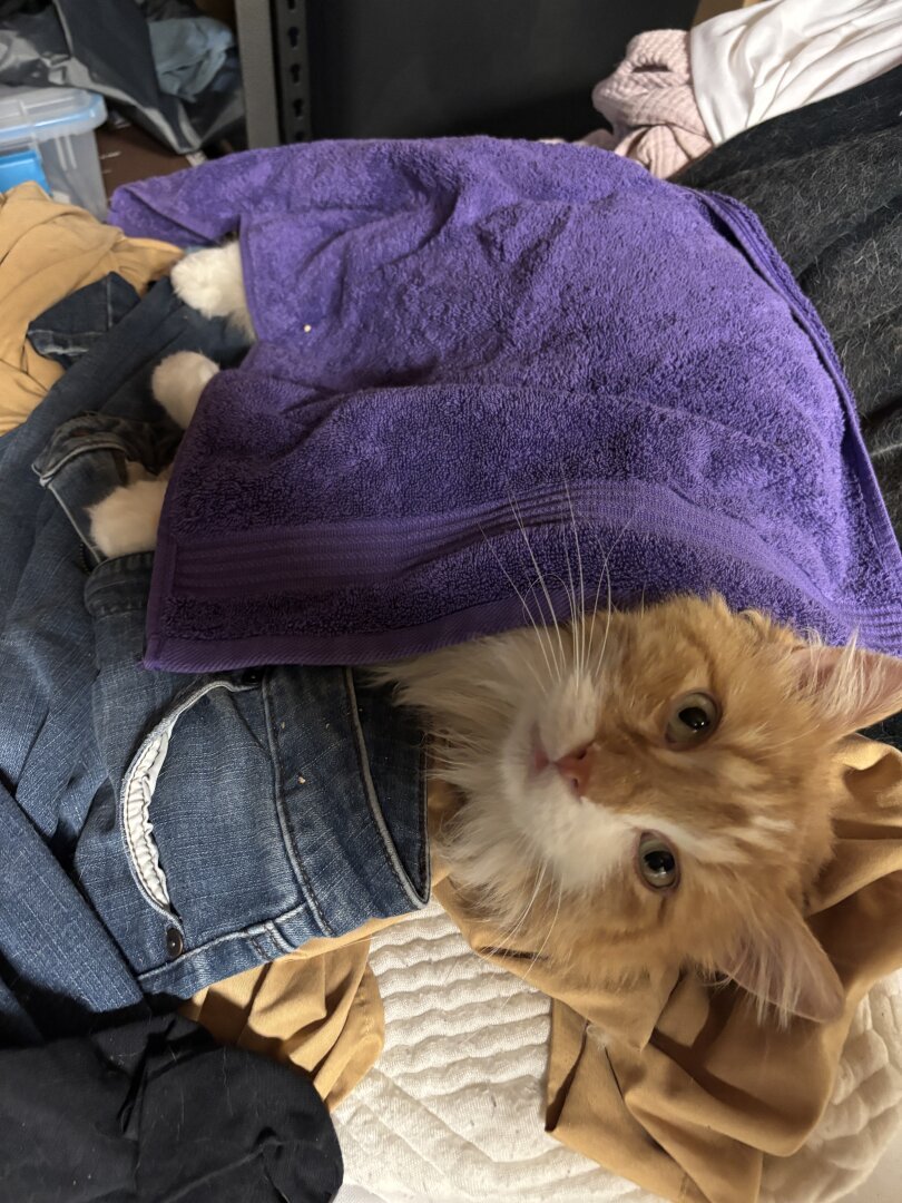
[[[676,182],[754,209],[830,331],[902,540],[902,66],[724,142]],[[865,734],[902,748],[902,715]]]

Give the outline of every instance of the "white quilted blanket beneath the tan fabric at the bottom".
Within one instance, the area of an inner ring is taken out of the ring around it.
[[[386,1039],[334,1114],[338,1203],[652,1203],[647,1191],[547,1136],[548,1000],[480,960],[437,903],[373,941]],[[862,1003],[833,1101],[761,1203],[833,1203],[902,1122],[902,974]]]

